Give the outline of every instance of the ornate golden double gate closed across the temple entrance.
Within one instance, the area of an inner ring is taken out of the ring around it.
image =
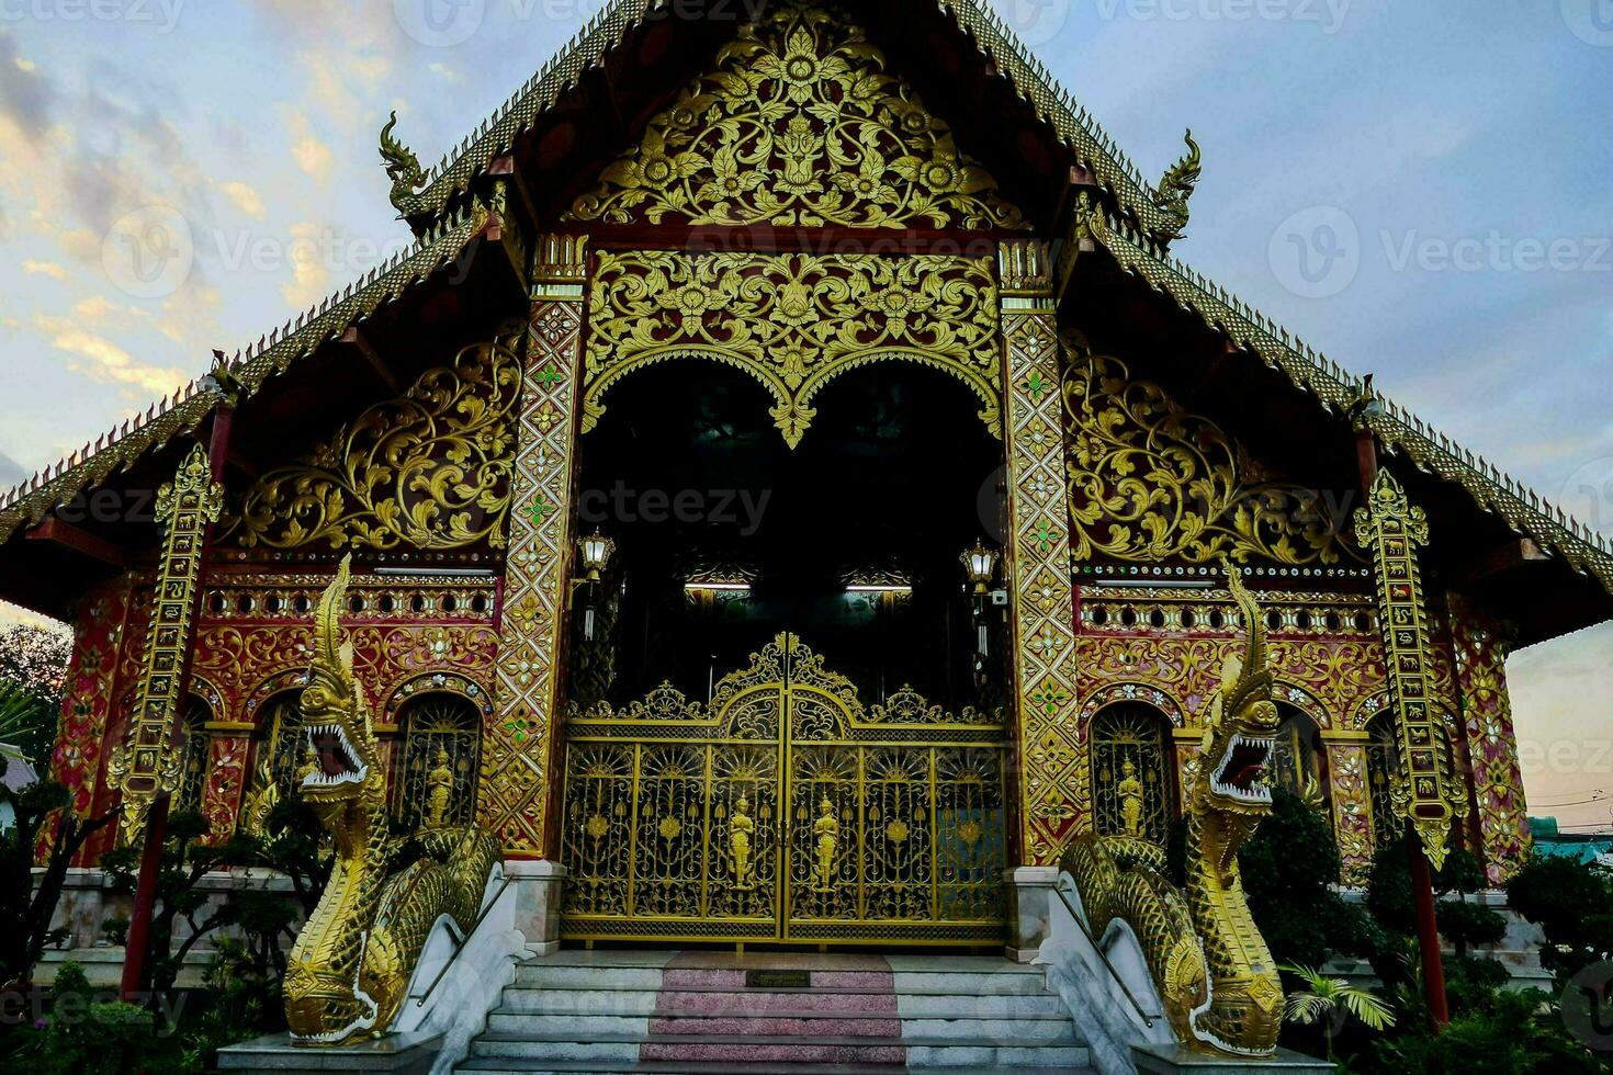
[[[995,943],[1002,725],[903,688],[866,712],[781,633],[710,704],[568,722],[561,935]]]

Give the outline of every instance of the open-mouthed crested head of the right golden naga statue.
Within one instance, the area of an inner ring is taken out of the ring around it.
[[[1226,569],[1232,600],[1248,629],[1248,648],[1242,661],[1227,658],[1221,672],[1221,690],[1210,704],[1195,777],[1205,807],[1219,814],[1232,830],[1224,849],[1229,859],[1271,812],[1265,770],[1279,717],[1271,701],[1271,667],[1260,606],[1244,587],[1237,567],[1227,564]]]

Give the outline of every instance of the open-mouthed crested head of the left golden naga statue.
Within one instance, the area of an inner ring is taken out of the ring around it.
[[[345,809],[358,804],[381,782],[369,708],[353,675],[353,643],[342,640],[337,622],[347,600],[350,567],[352,556],[342,561],[319,598],[313,662],[302,693],[303,735],[308,737],[313,766],[303,774],[298,790],[339,841],[352,835],[344,833],[340,825]]]

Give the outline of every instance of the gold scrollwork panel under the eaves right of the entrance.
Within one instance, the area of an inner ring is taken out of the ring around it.
[[[1242,445],[1118,358],[1065,347],[1074,559],[1360,559],[1315,490],[1265,480]]]

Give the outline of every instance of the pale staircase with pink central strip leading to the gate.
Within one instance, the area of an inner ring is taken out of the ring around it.
[[[960,956],[565,951],[515,985],[460,1072],[1087,1070],[1039,967]]]

